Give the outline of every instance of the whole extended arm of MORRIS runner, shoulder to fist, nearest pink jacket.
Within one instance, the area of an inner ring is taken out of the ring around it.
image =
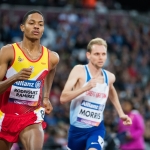
[[[110,72],[108,72],[108,75],[109,75],[109,99],[111,100],[114,107],[116,108],[119,117],[124,121],[124,124],[130,125],[130,124],[132,124],[132,121],[127,115],[124,114],[121,104],[119,102],[119,98],[118,98],[116,89],[113,85],[113,83],[116,80],[115,75]]]

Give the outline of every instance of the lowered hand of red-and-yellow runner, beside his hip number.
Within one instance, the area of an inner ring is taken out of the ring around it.
[[[46,114],[50,114],[50,112],[53,110],[53,106],[48,98],[43,99],[43,106]]]

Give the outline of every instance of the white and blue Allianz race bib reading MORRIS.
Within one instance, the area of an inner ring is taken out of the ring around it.
[[[102,121],[104,107],[105,105],[83,100],[79,108],[77,121],[92,126],[98,126]]]

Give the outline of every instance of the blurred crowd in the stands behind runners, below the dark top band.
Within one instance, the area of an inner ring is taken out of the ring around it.
[[[1,13],[0,18],[0,47],[21,41],[21,16],[8,11]],[[44,150],[65,149],[69,128],[69,104],[60,104],[59,97],[72,67],[87,63],[86,46],[95,37],[107,41],[108,59],[104,68],[116,76],[114,86],[120,102],[132,102],[134,109],[143,118],[142,136],[145,149],[150,149],[149,24],[137,22],[123,14],[96,14],[91,11],[55,12],[46,15],[45,20],[45,32],[41,43],[59,54],[60,63],[50,93],[54,109],[50,115],[45,116],[47,128]],[[107,148],[109,144],[120,144],[117,138],[113,138],[119,132],[120,120],[109,100],[104,111],[104,119],[107,131],[105,149],[110,150]],[[112,139],[115,140],[112,142]],[[16,146],[21,147],[20,143]],[[114,147],[115,149],[117,147]]]

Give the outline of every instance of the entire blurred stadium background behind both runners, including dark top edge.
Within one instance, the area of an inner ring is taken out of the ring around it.
[[[22,39],[19,25],[26,11],[38,9],[44,14],[45,32],[41,43],[58,52],[60,63],[50,93],[54,110],[45,116],[48,127],[43,150],[63,150],[69,128],[69,104],[60,104],[60,93],[72,67],[87,63],[85,52],[89,40],[104,38],[108,43],[108,60],[104,67],[116,75],[115,87],[120,101],[125,98],[132,100],[134,107],[142,114],[145,121],[144,139],[149,150],[150,1],[91,1],[1,0],[0,48]],[[109,100],[104,117],[107,130],[105,149],[117,150],[119,143],[114,137],[118,115]],[[23,150],[20,142],[17,144]]]

